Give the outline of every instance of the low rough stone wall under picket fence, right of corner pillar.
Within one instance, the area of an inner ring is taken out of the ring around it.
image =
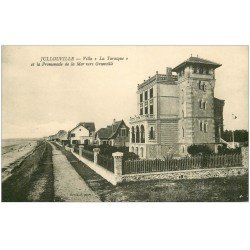
[[[214,177],[228,177],[244,175],[248,173],[245,167],[227,167],[211,169],[195,169],[171,172],[157,172],[144,174],[122,175],[121,181],[146,181],[146,180],[180,180],[180,179],[208,179]]]

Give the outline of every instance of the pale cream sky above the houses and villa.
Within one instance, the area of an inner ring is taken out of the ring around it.
[[[136,115],[137,84],[191,54],[222,64],[215,97],[225,100],[224,129],[248,130],[247,46],[3,46],[2,138],[49,136],[79,122],[95,122],[96,129],[113,119],[128,123]],[[81,62],[124,60],[113,66],[31,66],[41,57],[88,56],[93,60]]]

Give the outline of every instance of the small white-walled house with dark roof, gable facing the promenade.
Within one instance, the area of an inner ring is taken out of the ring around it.
[[[80,122],[76,125],[76,127],[69,131],[70,144],[93,144],[94,134],[94,122]]]

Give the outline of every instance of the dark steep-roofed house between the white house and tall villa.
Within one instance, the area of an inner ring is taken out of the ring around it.
[[[123,120],[116,121],[106,128],[99,129],[95,134],[97,144],[109,144],[115,147],[128,146],[129,144],[129,127]]]

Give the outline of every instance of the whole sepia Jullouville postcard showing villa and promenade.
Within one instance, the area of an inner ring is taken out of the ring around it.
[[[2,201],[248,201],[248,46],[2,46]]]

